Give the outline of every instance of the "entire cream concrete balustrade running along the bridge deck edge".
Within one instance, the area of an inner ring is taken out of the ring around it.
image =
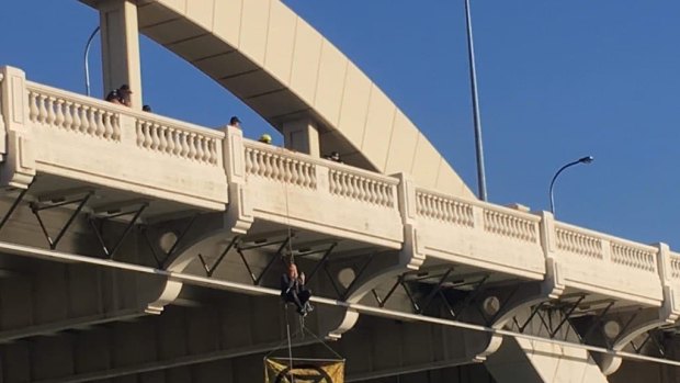
[[[25,81],[18,69],[3,74],[4,173],[34,164],[34,172],[121,195],[215,211],[238,203],[257,219],[394,249],[412,234],[409,245],[422,257],[511,278],[553,274],[566,289],[651,306],[660,306],[666,295],[672,301],[667,305],[680,313],[675,303],[680,302],[680,255],[665,245],[555,222],[549,213],[445,195],[405,176],[242,139],[240,132],[231,132],[240,137],[235,145],[228,131]],[[19,151],[15,158],[12,151]],[[229,171],[242,174],[241,201],[229,201]],[[12,182],[5,179],[5,185]],[[64,187],[59,182],[53,187]]]

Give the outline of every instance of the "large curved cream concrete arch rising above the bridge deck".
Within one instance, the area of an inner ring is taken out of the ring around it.
[[[105,1],[80,0],[92,7]],[[273,126],[310,119],[322,153],[474,198],[413,123],[336,46],[277,0],[137,0],[139,30]],[[388,145],[384,145],[389,137]]]

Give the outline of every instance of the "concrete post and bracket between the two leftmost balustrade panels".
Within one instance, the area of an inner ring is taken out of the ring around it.
[[[236,127],[226,127],[224,165],[229,190],[229,205],[225,214],[226,227],[236,234],[246,234],[254,221],[252,203],[246,193],[246,150],[243,134]]]

